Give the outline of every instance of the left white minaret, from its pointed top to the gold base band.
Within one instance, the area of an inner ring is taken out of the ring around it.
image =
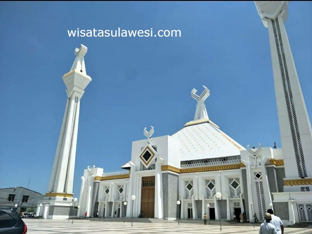
[[[57,200],[56,197],[67,200],[73,197],[80,99],[91,81],[85,71],[84,56],[87,50],[84,45],[75,49],[76,58],[71,70],[62,77],[66,85],[67,103],[46,193],[47,197],[51,197],[50,200]]]

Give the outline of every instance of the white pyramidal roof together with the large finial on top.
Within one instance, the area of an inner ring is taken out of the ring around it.
[[[204,101],[210,91],[203,87],[200,96],[196,94],[196,89],[191,92],[197,100],[194,121],[186,123],[185,128],[172,135],[181,145],[181,161],[240,155],[245,148],[209,120]]]

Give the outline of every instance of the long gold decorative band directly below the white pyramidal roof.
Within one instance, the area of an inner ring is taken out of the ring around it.
[[[192,172],[210,172],[210,171],[223,171],[241,168],[241,163],[230,164],[230,165],[219,165],[211,167],[194,167],[194,168],[177,168],[169,165],[161,166],[162,171],[171,171],[175,173],[192,173]]]

